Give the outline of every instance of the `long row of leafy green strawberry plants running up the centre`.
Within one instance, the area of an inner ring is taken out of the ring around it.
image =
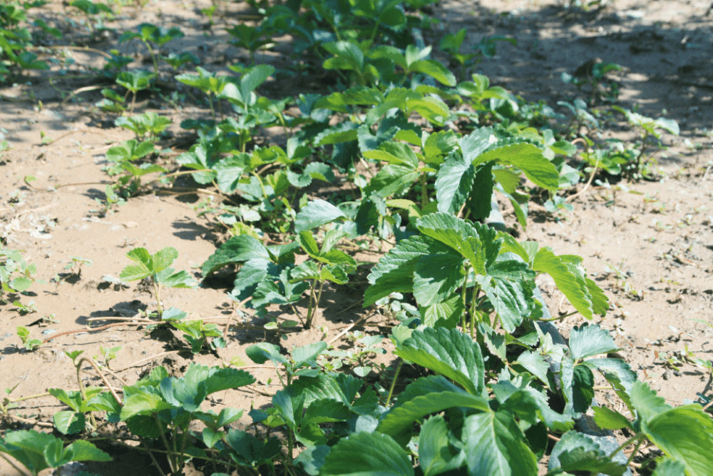
[[[158,367],[117,392],[106,375],[114,350],[102,349],[103,364],[98,356],[75,351],[67,355],[79,388],[48,390],[70,409],[54,415],[54,434],[8,430],[0,455],[36,475],[69,461],[108,460],[89,441],[108,437],[139,442],[161,475],[183,474],[189,461],[207,465],[214,476],[537,475],[546,454],[548,475],[617,476],[650,444],[662,457],[638,465],[640,471],[707,474],[713,429],[700,405],[667,405],[627,363],[608,356],[619,349],[599,326],[571,330],[564,345],[540,325],[551,319],[536,297],[540,273],[550,275],[585,318],[606,312],[607,298],[588,277],[583,259],[518,242],[484,224],[496,197],[511,203],[525,228],[528,203],[540,192],[558,211],[566,208],[566,193],[587,174],[591,183],[597,170],[649,175],[649,148],[662,148],[661,131],[677,133],[677,124],[622,109],[641,131],[640,141],[600,144],[585,135],[588,150],[575,159],[573,134],[581,134],[582,126],[600,127],[587,104],[564,103],[572,116],[565,121],[545,104],[527,104],[491,86],[486,76],[471,74],[465,81],[469,69],[495,54],[498,41],[511,39],[483,39],[476,53],[461,54],[465,32],[444,36],[441,51],[460,68],[456,81],[431,59],[431,46],[419,45],[419,31],[431,19],[418,9],[430,3],[287,0],[263,6],[260,24],[228,30],[252,64],[230,66],[230,75],[198,66],[195,74],[175,76],[202,91],[210,108],[210,116],[181,124],[197,140],[175,158],[158,146],[170,120],[150,111],[133,114],[133,108],[140,91],[161,93],[160,57],[172,68],[184,59],[183,64],[198,62],[160,51],[183,36],[179,29],[142,24],[122,34],[120,43],[145,45],[153,71],[125,71],[130,59],[112,51],[103,71],[116,86],[102,91],[105,99],[97,104],[111,113],[129,108],[116,125],[135,133],[106,154],[113,183],[100,213],[113,212],[138,193],[205,196],[198,212],[232,238],[205,260],[202,277],[237,270],[230,298],[254,310],[255,322],[266,330],[312,328],[325,285],[342,289],[364,264],[355,251],[386,246],[367,278],[364,306],[394,311],[399,323],[387,336],[396,348],[393,365],[362,365],[325,340],[287,354],[272,343],[252,345],[247,358],[274,364],[282,389],[272,396],[272,406],[247,412],[250,428],[242,431],[230,424],[245,409],[215,413],[201,404],[212,393],[255,383],[246,370],[193,363],[177,378]],[[257,92],[270,77],[285,74],[255,64],[256,52],[282,34],[292,36],[294,54],[334,74],[334,91],[296,98]],[[270,126],[283,129],[284,141],[258,146],[255,137]],[[195,184],[177,186],[186,176]],[[320,191],[319,183],[337,181],[347,193]],[[281,244],[269,244],[277,236]],[[143,324],[180,331],[193,353],[227,345],[227,328],[221,333],[213,324],[188,319],[183,310],[164,307],[163,288],[198,284],[171,268],[177,250],[135,248],[127,256],[133,264],[119,279],[148,279],[153,288],[155,312],[143,316]],[[19,295],[36,270],[18,251],[4,250],[2,258],[4,293]],[[294,319],[272,317],[267,310],[275,306],[289,308]],[[27,350],[43,344],[26,328],[18,335]],[[369,339],[364,348],[371,350],[364,353],[378,348],[370,347],[374,343]],[[106,387],[83,385],[85,364]],[[404,365],[420,376],[402,385]],[[378,373],[379,381],[363,380],[369,372]],[[630,417],[593,406],[595,373]],[[0,412],[12,417],[10,410],[23,400],[6,397]],[[605,450],[599,440],[575,431],[575,422],[590,411],[599,427],[622,430],[627,440]],[[202,430],[193,429],[196,422]],[[125,435],[108,432],[109,424]],[[622,460],[627,447],[633,450]]]

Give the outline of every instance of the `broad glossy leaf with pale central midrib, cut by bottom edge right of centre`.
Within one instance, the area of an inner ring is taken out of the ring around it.
[[[471,415],[463,424],[469,475],[536,476],[537,457],[508,412]]]

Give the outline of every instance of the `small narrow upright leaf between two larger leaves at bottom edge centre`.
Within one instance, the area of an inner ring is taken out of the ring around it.
[[[431,417],[421,425],[419,467],[424,476],[435,476],[461,467],[465,453],[455,451],[448,438],[448,424],[441,416]]]

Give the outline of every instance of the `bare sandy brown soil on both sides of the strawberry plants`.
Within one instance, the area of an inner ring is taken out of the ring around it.
[[[207,19],[197,14],[206,6],[210,2],[161,0],[143,9],[125,7],[108,26],[119,32],[141,22],[180,26],[186,36],[172,42],[170,49],[193,51],[211,71],[245,61],[245,51],[226,43],[224,29],[237,23],[236,12],[246,11],[247,4],[222,5],[225,12],[215,17],[210,30],[205,28]],[[44,8],[61,14],[64,7],[57,3]],[[520,230],[518,237],[550,245],[558,254],[585,258],[585,267],[597,274],[612,303],[600,324],[617,333],[617,342],[624,349],[622,357],[640,378],[674,405],[711,395],[709,373],[692,363],[694,357],[713,358],[713,330],[695,321],[713,322],[713,154],[709,133],[713,128],[713,83],[709,83],[713,16],[708,16],[709,8],[710,3],[703,1],[618,0],[588,12],[565,9],[556,1],[453,0],[442,1],[433,9],[433,16],[441,21],[436,33],[439,29],[454,33],[466,27],[466,43],[493,34],[517,39],[517,46],[498,44],[497,56],[483,61],[479,69],[490,76],[491,84],[504,86],[528,101],[541,99],[557,108],[557,101],[578,95],[586,98],[586,92],[563,83],[560,74],[573,74],[586,61],[600,58],[624,67],[610,75],[620,84],[618,104],[639,106],[640,113],[655,118],[665,110],[667,118],[678,121],[681,136],[665,136],[670,149],[657,156],[660,181],[620,182],[618,188],[592,186],[573,201],[574,211],[562,213],[558,219],[535,205],[528,227]],[[69,27],[66,34],[76,39],[80,36],[76,32],[72,36]],[[110,36],[89,46],[108,51],[117,48],[118,41]],[[136,54],[133,66],[145,61],[138,51],[122,51]],[[91,52],[71,54],[76,62],[70,75],[86,74],[87,66],[103,64],[101,56]],[[262,60],[279,64],[282,57],[265,54]],[[155,308],[145,287],[137,283],[108,285],[103,278],[118,277],[130,263],[125,258],[128,250],[143,246],[155,252],[173,246],[180,253],[175,268],[190,270],[198,278],[196,267],[222,240],[207,219],[197,217],[195,200],[140,196],[115,208],[115,213],[98,217],[95,198],[103,198],[101,183],[108,183],[101,170],[104,154],[112,144],[132,138],[132,134],[113,127],[113,117],[91,106],[101,98],[97,91],[74,96],[81,101],[61,96],[61,91],[95,83],[86,78],[49,83],[41,74],[29,74],[24,83],[0,86],[0,132],[12,146],[0,162],[0,237],[7,248],[24,250],[26,260],[37,266],[37,278],[46,281],[34,284],[31,293],[21,297],[26,305],[34,301],[35,313],[22,314],[13,305],[0,305],[0,388],[14,388],[11,396],[15,398],[40,394],[46,388],[76,388],[75,370],[64,354],[68,350],[98,355],[100,346],[120,346],[112,368],[122,370],[120,375],[133,383],[155,365],[167,365],[180,374],[191,360],[220,365],[237,356],[249,362],[244,349],[266,338],[283,348],[322,338],[319,330],[295,331],[280,339],[264,330],[237,329],[230,332],[227,348],[218,350],[217,355],[194,356],[188,351],[177,353],[180,344],[168,332],[151,335],[136,325],[86,332],[90,323],[93,327],[110,323],[90,322],[90,318],[130,316]],[[294,91],[285,90],[285,86],[273,84],[267,93],[296,95],[320,88],[318,80],[310,79],[287,85]],[[606,111],[607,106],[600,109]],[[171,118],[176,137],[182,134],[180,121],[209,113],[205,104],[191,101],[190,96],[185,103],[173,106],[140,96],[137,112],[143,111]],[[602,138],[634,138],[624,123],[610,124]],[[53,141],[43,144],[41,132]],[[266,136],[269,133],[266,131]],[[30,187],[24,176],[37,180]],[[61,188],[48,191],[56,186]],[[515,223],[507,211],[506,221],[508,226]],[[78,256],[92,260],[91,265],[83,265],[81,276],[73,283],[55,283],[54,276],[68,273],[65,266]],[[553,315],[569,312],[548,280],[542,280],[540,288]],[[165,290],[162,298],[167,306],[219,325],[233,312],[225,289]],[[329,329],[327,340],[372,312],[362,310],[358,303],[358,293],[329,292],[317,321],[317,327]],[[54,315],[54,322],[49,315]],[[386,333],[375,326],[376,318],[366,323],[372,324],[357,329]],[[558,328],[566,336],[580,323],[581,319],[573,316],[560,321]],[[251,324],[259,327],[262,323],[254,320]],[[59,335],[27,353],[16,336],[19,325],[28,326],[32,335],[41,339],[67,331],[83,332]],[[339,342],[343,341],[336,344]],[[163,353],[169,354],[160,355]],[[267,385],[275,372],[270,368],[250,371],[259,382],[255,388],[227,393],[213,404],[246,410],[251,405],[267,405],[278,389],[274,382]],[[84,373],[83,378],[95,383],[91,373]],[[40,397],[27,400],[14,411],[48,422],[61,409],[53,397]],[[0,462],[0,475],[14,474],[4,464]],[[113,474],[106,468],[102,471]]]

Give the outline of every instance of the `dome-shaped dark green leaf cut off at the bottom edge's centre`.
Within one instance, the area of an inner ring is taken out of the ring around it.
[[[414,476],[414,465],[389,435],[361,432],[342,438],[324,457],[322,476]]]

